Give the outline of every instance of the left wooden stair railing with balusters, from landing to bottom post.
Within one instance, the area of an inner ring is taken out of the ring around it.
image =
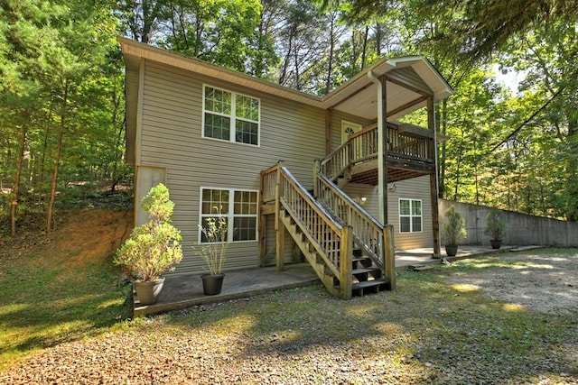
[[[282,166],[282,163],[262,171],[261,179],[262,202],[275,200],[283,206],[325,262],[326,267],[340,281],[343,295],[350,296],[352,280],[350,226],[335,222],[331,213],[312,197],[291,172]],[[274,186],[270,184],[272,181],[275,181]]]

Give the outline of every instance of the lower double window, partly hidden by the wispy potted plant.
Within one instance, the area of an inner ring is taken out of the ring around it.
[[[200,189],[200,225],[207,228],[211,218],[223,216],[228,225],[228,242],[256,241],[257,192],[226,188]],[[209,242],[200,232],[200,243]]]

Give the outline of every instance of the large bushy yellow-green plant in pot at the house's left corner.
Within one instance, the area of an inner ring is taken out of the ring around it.
[[[151,188],[142,207],[149,215],[148,223],[133,229],[117,250],[114,262],[126,266],[135,277],[136,297],[141,305],[152,305],[163,289],[164,272],[182,260],[182,237],[171,224],[174,204],[162,183]]]

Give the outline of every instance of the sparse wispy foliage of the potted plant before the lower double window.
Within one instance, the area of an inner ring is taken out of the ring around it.
[[[206,218],[203,225],[199,226],[204,243],[193,246],[193,252],[207,262],[212,275],[222,272],[228,249],[227,218],[220,215],[217,207],[214,208],[218,211],[218,215]]]

